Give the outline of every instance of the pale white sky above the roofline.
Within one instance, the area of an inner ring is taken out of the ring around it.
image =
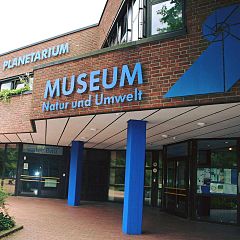
[[[0,54],[98,23],[106,0],[0,1]]]

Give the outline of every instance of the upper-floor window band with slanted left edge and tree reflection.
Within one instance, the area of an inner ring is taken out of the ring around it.
[[[184,0],[126,0],[104,47],[184,28]]]

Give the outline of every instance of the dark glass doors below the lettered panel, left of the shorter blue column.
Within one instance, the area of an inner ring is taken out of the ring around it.
[[[56,156],[27,155],[20,176],[19,194],[36,197],[63,197],[65,173]]]

